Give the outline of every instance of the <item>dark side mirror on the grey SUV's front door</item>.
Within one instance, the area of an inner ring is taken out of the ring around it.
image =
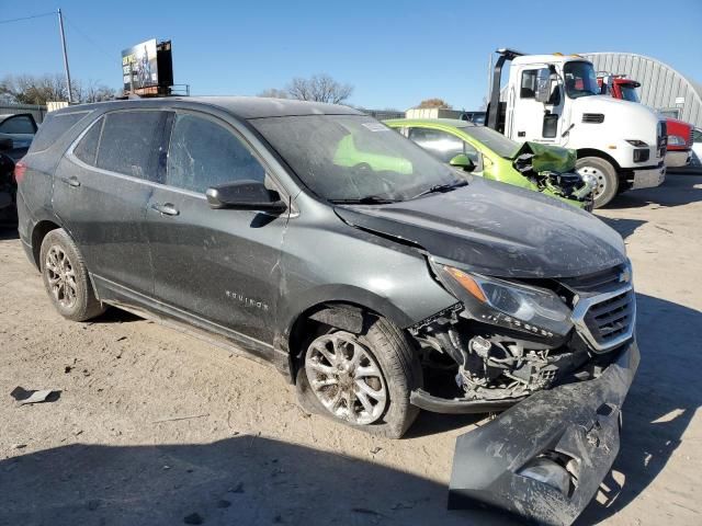
[[[213,186],[205,192],[211,208],[234,210],[260,210],[281,213],[287,209],[278,192],[268,190],[258,181],[237,181],[236,183]]]

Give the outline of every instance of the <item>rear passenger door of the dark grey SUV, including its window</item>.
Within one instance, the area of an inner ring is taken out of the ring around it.
[[[146,204],[154,188],[166,113],[118,111],[98,118],[55,174],[54,209],[95,285],[150,295]]]

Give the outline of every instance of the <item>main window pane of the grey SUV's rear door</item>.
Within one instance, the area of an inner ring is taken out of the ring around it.
[[[134,111],[105,115],[98,149],[98,168],[149,179],[149,164],[163,112]]]

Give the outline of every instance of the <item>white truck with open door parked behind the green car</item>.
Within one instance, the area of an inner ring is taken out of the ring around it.
[[[654,111],[601,95],[592,62],[577,55],[497,53],[487,126],[518,141],[577,150],[577,172],[596,182],[596,207],[620,192],[663,183],[666,123]]]

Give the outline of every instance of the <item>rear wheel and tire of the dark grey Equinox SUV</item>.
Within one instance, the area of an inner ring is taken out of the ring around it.
[[[86,321],[102,315],[80,251],[63,228],[52,230],[42,241],[42,278],[54,307],[72,321]]]

